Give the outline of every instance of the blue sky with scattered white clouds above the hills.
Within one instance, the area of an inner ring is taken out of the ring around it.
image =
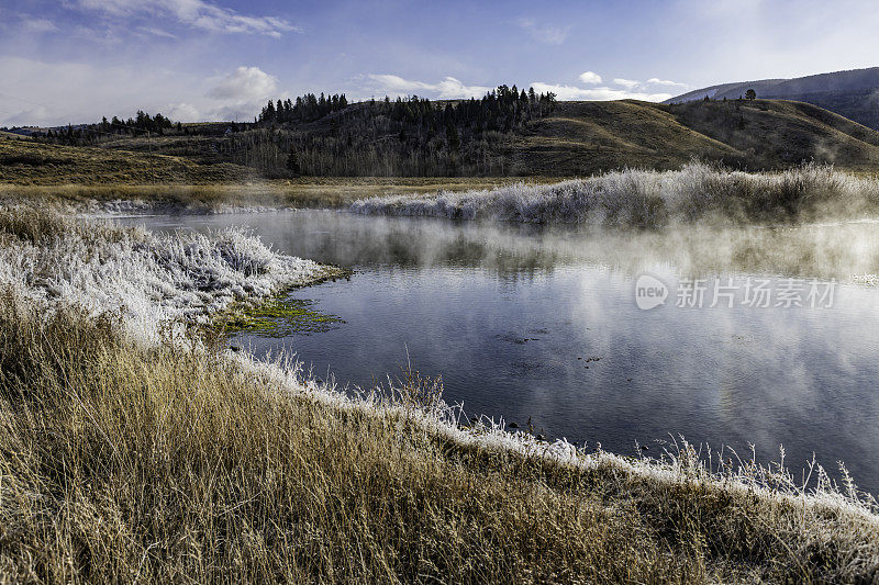
[[[268,99],[661,101],[879,65],[876,0],[0,0],[0,126],[136,110],[253,120]]]

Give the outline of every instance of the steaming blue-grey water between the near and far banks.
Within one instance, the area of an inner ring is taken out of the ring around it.
[[[283,348],[319,378],[370,386],[408,348],[469,415],[531,418],[549,439],[623,454],[635,441],[655,453],[668,434],[743,459],[752,442],[764,462],[783,445],[790,466],[814,451],[879,492],[879,289],[853,279],[879,272],[879,225],[542,230],[322,211],[131,222],[247,225],[282,252],[356,271],[291,294],[344,319],[334,328],[232,339],[258,357]],[[643,273],[667,286],[664,305],[638,308]],[[676,306],[692,279],[702,306]],[[746,302],[757,282],[769,307]],[[712,307],[716,285],[731,296]],[[804,306],[783,306],[782,290]]]

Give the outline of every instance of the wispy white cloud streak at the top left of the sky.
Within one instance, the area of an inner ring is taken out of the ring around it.
[[[113,16],[155,13],[175,18],[179,23],[215,33],[248,33],[280,37],[300,29],[276,16],[246,16],[205,0],[78,0],[81,8]]]

